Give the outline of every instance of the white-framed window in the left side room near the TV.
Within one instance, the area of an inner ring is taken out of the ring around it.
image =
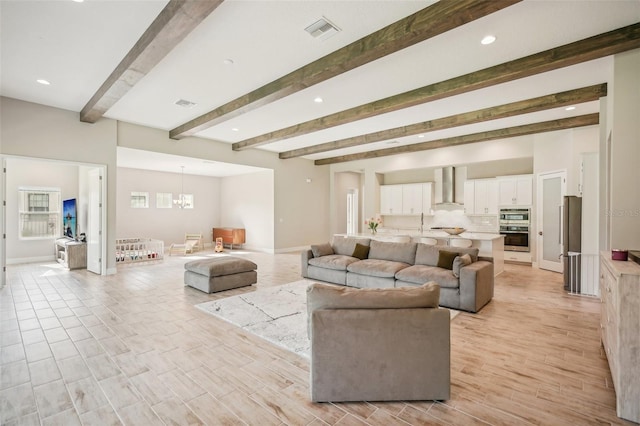
[[[61,234],[59,188],[18,188],[19,238],[56,238]]]

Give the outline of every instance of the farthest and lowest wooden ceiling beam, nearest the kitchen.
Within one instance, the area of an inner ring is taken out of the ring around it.
[[[586,114],[578,117],[563,118],[560,120],[544,121],[540,123],[526,124],[523,126],[507,127],[504,129],[491,130],[488,132],[474,133],[471,135],[455,136],[452,138],[438,139],[421,142],[412,145],[398,146],[394,148],[379,149],[376,151],[361,152],[358,154],[341,155],[338,157],[316,160],[316,166],[328,164],[345,163],[347,161],[366,160],[371,158],[386,157],[389,155],[407,154],[411,152],[427,151],[430,149],[446,148],[457,145],[465,145],[477,142],[486,142],[496,139],[513,138],[516,136],[526,136],[535,133],[553,132],[556,130],[571,129],[575,127],[593,126],[600,121],[600,114]]]

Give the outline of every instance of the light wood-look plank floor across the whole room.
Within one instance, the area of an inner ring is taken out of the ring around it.
[[[234,254],[258,264],[259,286],[300,279],[298,254]],[[194,308],[255,290],[184,287],[194,258],[108,277],[10,266],[0,424],[630,424],[615,415],[599,301],[564,294],[559,274],[507,265],[494,300],[453,320],[450,400],[312,404],[307,360]]]

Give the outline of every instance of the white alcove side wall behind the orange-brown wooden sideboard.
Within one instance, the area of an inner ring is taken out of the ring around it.
[[[273,199],[272,170],[225,177],[221,179],[216,226],[244,228],[245,248],[273,252]]]

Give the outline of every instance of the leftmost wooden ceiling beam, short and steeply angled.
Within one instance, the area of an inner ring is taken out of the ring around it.
[[[98,121],[222,2],[170,0],[82,108],[80,121]]]

